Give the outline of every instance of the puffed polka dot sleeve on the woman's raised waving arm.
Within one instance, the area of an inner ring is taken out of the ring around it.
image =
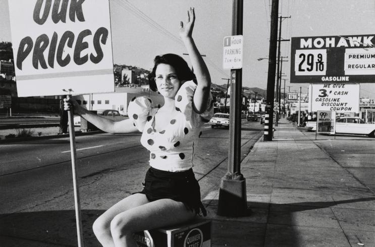
[[[213,100],[211,93],[206,104],[206,110],[197,113],[193,109],[193,97],[197,85],[193,81],[187,81],[182,84],[175,96],[176,109],[184,113],[186,120],[191,122],[192,128],[199,128],[203,123],[208,122],[213,115]]]

